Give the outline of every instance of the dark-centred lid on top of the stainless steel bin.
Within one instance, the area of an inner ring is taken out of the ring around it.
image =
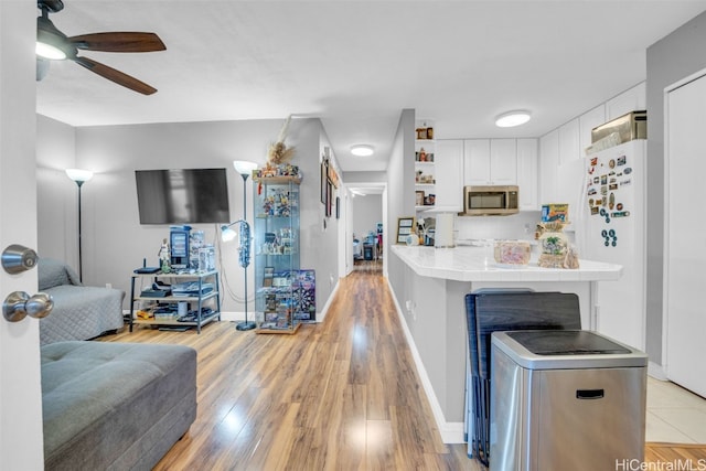
[[[644,367],[648,364],[643,352],[591,331],[493,332],[492,344],[528,370]]]

